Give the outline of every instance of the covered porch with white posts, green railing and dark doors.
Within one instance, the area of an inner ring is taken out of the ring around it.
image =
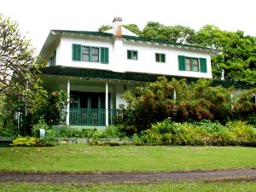
[[[56,75],[42,75],[49,93],[67,92],[67,108],[61,113],[61,123],[66,125],[114,125],[119,115],[120,96],[125,90],[134,90],[137,83],[113,79],[89,79]]]

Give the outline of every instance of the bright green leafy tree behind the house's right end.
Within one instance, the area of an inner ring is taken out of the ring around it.
[[[212,58],[212,75],[233,82],[256,84],[256,38],[244,32],[221,31],[217,26],[204,26],[196,32],[194,44],[219,49],[220,55]]]

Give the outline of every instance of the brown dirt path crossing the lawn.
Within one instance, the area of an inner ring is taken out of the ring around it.
[[[205,172],[0,172],[2,183],[156,183],[199,180],[206,182],[255,181],[256,169]]]

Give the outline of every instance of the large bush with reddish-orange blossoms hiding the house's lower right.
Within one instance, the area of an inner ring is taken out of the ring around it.
[[[138,87],[134,94],[125,92],[123,97],[128,105],[121,106],[122,123],[130,135],[167,118],[176,122],[208,119],[225,123],[233,117],[230,95],[231,89],[212,87],[210,80],[187,84],[185,79],[168,82],[160,77]]]

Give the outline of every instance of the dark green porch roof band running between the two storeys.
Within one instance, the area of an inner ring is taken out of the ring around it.
[[[46,75],[57,75],[57,76],[66,76],[66,77],[78,77],[78,78],[95,78],[95,79],[115,79],[115,80],[127,80],[127,81],[137,81],[137,82],[154,82],[158,77],[164,76],[160,74],[150,74],[150,73],[117,73],[107,70],[98,70],[98,69],[88,69],[88,68],[79,68],[79,67],[46,67],[42,70],[42,74]],[[188,82],[195,82],[199,78],[188,78],[183,76],[172,76],[166,75],[168,80],[175,79],[187,79]],[[251,89],[254,86],[248,84],[239,84],[230,81],[221,81],[213,79],[212,85],[218,86],[222,85],[224,87],[234,86],[237,89]]]

